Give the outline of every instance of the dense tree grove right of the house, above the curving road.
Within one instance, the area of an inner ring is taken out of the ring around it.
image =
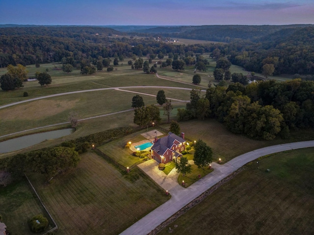
[[[217,118],[230,131],[252,138],[287,137],[289,130],[314,127],[314,82],[294,79],[251,83],[244,87],[210,87],[205,96],[190,92],[191,101],[178,109],[178,119]]]

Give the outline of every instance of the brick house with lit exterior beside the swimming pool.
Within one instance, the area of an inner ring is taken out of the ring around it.
[[[182,156],[181,152],[185,150],[185,144],[183,132],[181,136],[169,132],[167,136],[160,139],[155,137],[151,157],[159,163],[167,163]]]

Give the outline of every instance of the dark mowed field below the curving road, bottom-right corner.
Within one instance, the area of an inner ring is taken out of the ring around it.
[[[313,235],[314,148],[263,158],[259,167],[249,163],[158,234]]]

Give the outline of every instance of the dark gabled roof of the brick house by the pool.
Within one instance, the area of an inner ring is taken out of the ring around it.
[[[182,137],[169,132],[167,136],[157,139],[156,143],[152,146],[152,150],[163,155],[167,149],[171,150],[173,144],[178,145],[183,142],[185,142],[185,140]]]

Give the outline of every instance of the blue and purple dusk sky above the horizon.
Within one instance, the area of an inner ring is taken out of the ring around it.
[[[314,24],[314,0],[0,0],[0,24]]]

